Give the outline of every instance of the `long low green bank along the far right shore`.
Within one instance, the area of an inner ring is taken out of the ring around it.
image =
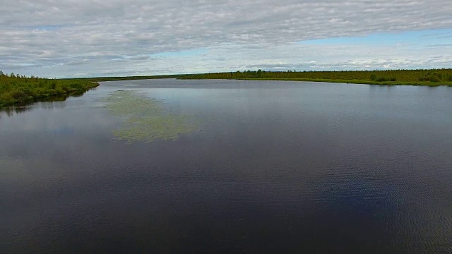
[[[452,69],[391,71],[244,71],[189,74],[184,79],[292,80],[370,85],[452,86]]]

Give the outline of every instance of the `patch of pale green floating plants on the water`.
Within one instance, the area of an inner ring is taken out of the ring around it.
[[[126,143],[176,140],[180,134],[189,133],[197,126],[189,116],[168,113],[162,101],[143,97],[136,91],[113,92],[105,101],[112,114],[124,117],[123,126],[113,133]]]

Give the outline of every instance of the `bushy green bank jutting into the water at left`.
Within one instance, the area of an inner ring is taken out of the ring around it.
[[[0,75],[0,108],[36,99],[83,92],[99,85],[91,80]]]

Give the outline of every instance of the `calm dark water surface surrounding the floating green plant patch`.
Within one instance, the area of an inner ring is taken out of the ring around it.
[[[197,125],[119,140],[117,90]],[[0,112],[0,253],[451,253],[452,88],[101,83]]]

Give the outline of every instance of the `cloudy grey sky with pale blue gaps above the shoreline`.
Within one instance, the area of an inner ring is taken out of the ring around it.
[[[47,78],[452,68],[451,0],[0,0],[0,70]]]

